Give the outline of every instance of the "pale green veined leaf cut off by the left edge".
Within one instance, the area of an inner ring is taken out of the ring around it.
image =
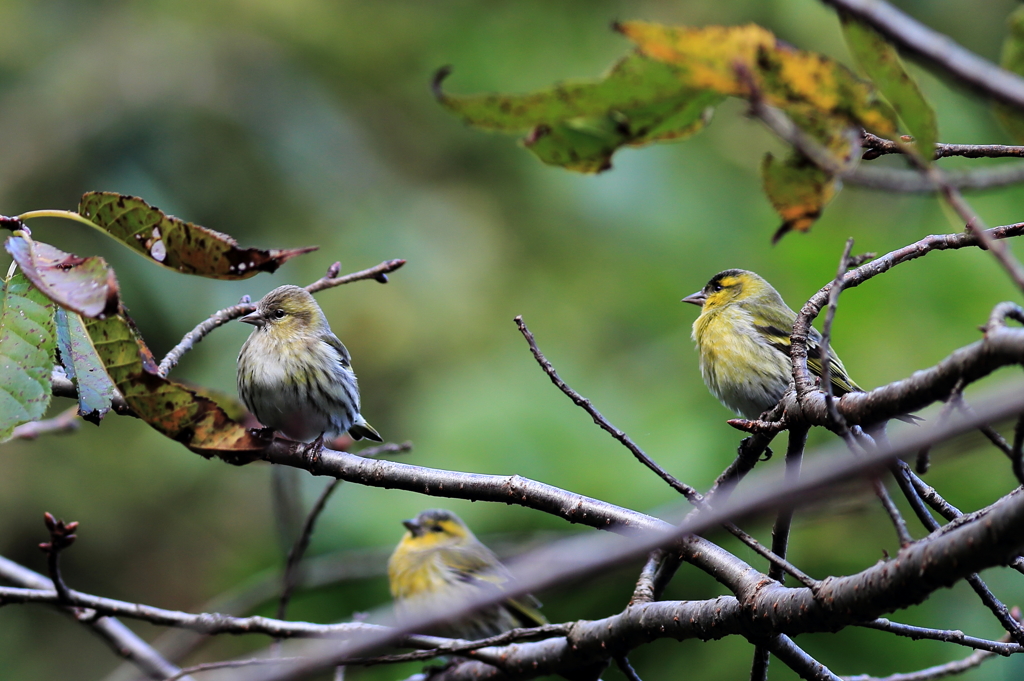
[[[18,272],[3,289],[0,312],[0,440],[43,418],[53,371],[53,308]]]

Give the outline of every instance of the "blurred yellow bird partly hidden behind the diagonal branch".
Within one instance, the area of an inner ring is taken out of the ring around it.
[[[387,563],[399,621],[443,608],[452,599],[502,590],[512,579],[498,556],[455,513],[431,509],[401,523],[409,531]],[[538,627],[547,623],[540,606],[532,596],[510,598],[469,618],[447,622],[431,633],[476,640],[517,627]]]

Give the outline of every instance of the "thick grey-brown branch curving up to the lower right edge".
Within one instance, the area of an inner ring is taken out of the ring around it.
[[[993,504],[980,522],[943,528],[902,549],[892,560],[857,574],[824,580],[810,589],[765,583],[745,602],[722,596],[707,601],[641,603],[593,622],[566,637],[520,643],[500,652],[502,670],[474,665],[443,673],[460,679],[529,679],[568,671],[658,638],[718,639],[837,631],[851,623],[920,603],[967,574],[1000,565],[1024,547],[1024,493]],[[498,651],[496,651],[497,653]],[[438,680],[440,681],[440,680]]]

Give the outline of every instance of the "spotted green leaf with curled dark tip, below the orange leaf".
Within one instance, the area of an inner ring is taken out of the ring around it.
[[[711,120],[723,96],[680,87],[671,66],[630,54],[601,80],[566,82],[528,94],[456,96],[438,101],[465,123],[499,132],[529,131],[523,145],[541,161],[579,172],[611,167],[622,146],[682,139]]]

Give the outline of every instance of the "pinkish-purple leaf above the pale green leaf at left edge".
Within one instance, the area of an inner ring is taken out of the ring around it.
[[[102,258],[82,258],[23,237],[8,237],[4,247],[29,281],[61,307],[84,316],[117,312],[118,280]]]

